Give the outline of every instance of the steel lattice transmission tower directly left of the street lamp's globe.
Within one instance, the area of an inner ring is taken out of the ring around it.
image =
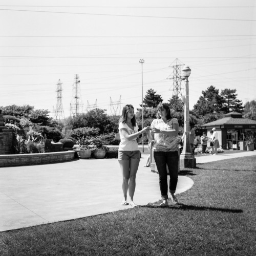
[[[176,98],[181,98],[181,69],[184,66],[179,59],[175,59],[172,64],[170,64],[170,68],[173,68],[173,72],[166,79],[173,79],[173,88],[171,87],[169,91],[173,91],[173,96]]]

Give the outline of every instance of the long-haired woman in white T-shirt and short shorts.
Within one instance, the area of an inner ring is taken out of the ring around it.
[[[134,193],[136,187],[136,174],[140,163],[140,151],[138,143],[146,140],[147,137],[140,137],[143,133],[150,131],[151,127],[144,127],[138,131],[139,127],[136,123],[133,105],[127,104],[123,107],[122,115],[119,119],[118,130],[120,133],[120,144],[118,149],[118,162],[122,171],[122,190],[123,200],[121,205],[128,205],[127,192],[131,202],[129,205],[137,206],[134,201]]]

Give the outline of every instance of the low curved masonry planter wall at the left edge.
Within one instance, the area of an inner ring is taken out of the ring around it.
[[[59,163],[73,160],[74,157],[75,151],[0,155],[0,167]]]

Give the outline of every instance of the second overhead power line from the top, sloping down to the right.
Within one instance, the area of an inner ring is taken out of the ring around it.
[[[255,19],[229,19],[229,18],[198,18],[198,17],[167,17],[167,16],[146,16],[146,15],[123,15],[123,14],[103,14],[103,13],[82,13],[82,12],[56,12],[56,11],[35,11],[35,10],[15,10],[0,9],[1,11],[17,11],[17,12],[41,12],[41,13],[59,13],[59,14],[78,14],[78,15],[94,15],[94,16],[115,16],[115,17],[138,17],[138,18],[170,18],[170,19],[199,19],[199,20],[231,20],[239,22],[256,22]]]

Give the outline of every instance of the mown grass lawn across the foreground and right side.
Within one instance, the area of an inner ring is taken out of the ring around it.
[[[177,206],[156,202],[1,232],[0,254],[255,255],[256,158],[197,164],[180,174],[195,184],[177,196]]]

